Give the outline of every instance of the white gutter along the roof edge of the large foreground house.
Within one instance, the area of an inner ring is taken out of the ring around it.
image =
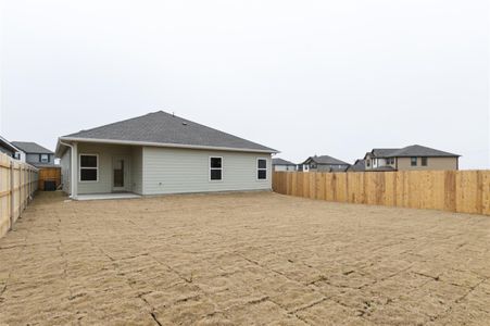
[[[153,146],[153,147],[167,147],[167,148],[185,148],[185,149],[200,149],[200,150],[222,150],[233,152],[251,152],[251,153],[279,153],[276,150],[259,150],[248,148],[233,148],[233,147],[216,147],[216,146],[199,146],[199,145],[181,145],[171,142],[151,142],[151,141],[133,141],[133,140],[113,140],[113,139],[92,139],[92,138],[71,138],[60,137],[60,143],[66,141],[83,141],[83,142],[97,142],[97,143],[116,143],[116,145],[131,145],[131,146]],[[58,151],[58,148],[56,148]]]

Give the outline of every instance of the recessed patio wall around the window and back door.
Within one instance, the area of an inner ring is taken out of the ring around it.
[[[105,143],[91,143],[91,142],[79,142],[78,143],[78,155],[85,154],[98,154],[99,155],[99,179],[97,181],[80,181],[79,173],[78,175],[78,195],[84,193],[110,193],[113,186],[113,158],[114,156],[127,156],[129,159],[128,172],[125,177],[125,184],[127,191],[133,191],[133,168],[131,166],[131,154],[133,148],[129,146],[118,146],[118,145],[105,145]],[[77,166],[79,171],[80,162],[77,159]]]

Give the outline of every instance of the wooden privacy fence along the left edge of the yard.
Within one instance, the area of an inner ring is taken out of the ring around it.
[[[0,238],[30,202],[37,178],[37,168],[0,153]]]

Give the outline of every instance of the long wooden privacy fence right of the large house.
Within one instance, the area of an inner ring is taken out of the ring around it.
[[[490,215],[490,171],[275,172],[273,189],[335,202]]]

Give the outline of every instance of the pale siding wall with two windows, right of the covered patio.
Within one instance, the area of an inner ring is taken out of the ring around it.
[[[223,179],[210,180],[210,156],[223,158]],[[257,180],[256,160],[267,160],[267,179]],[[143,148],[143,195],[272,189],[267,153]]]

